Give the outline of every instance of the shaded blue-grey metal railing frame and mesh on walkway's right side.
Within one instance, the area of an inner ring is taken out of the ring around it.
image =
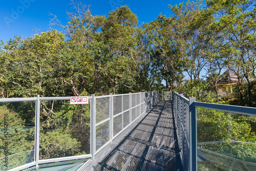
[[[184,110],[189,106],[189,110]],[[182,94],[173,92],[173,110],[175,117],[178,146],[181,154],[182,166],[185,170],[197,170],[198,148],[197,145],[197,108],[237,113],[242,115],[256,116],[256,108],[197,102],[195,98],[185,98]],[[184,119],[185,117],[188,117]],[[189,120],[189,124],[187,123]],[[187,131],[189,130],[189,132]],[[183,138],[184,137],[184,138]],[[189,140],[188,140],[189,137]],[[229,140],[229,142],[232,140]],[[221,141],[216,141],[221,142]],[[239,141],[236,141],[239,142]],[[209,143],[209,142],[207,142]],[[241,142],[244,143],[244,142]],[[185,144],[185,145],[184,145]],[[187,145],[186,145],[187,144]],[[189,148],[189,159],[187,149]]]

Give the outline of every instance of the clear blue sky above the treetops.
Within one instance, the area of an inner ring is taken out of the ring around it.
[[[92,15],[108,15],[108,13],[120,7],[128,5],[133,13],[138,16],[139,23],[148,23],[154,20],[160,13],[169,16],[168,5],[176,5],[183,1],[138,1],[138,0],[81,0],[82,4],[91,5]],[[50,30],[49,12],[56,15],[63,25],[67,23],[66,12],[74,9],[70,0],[10,0],[2,1],[0,4],[0,39],[6,41],[14,35],[23,38],[35,34],[33,30],[46,32]],[[59,27],[54,29],[60,30]]]

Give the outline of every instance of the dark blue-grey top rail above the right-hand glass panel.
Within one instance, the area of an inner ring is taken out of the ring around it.
[[[204,102],[197,102],[197,101],[193,102],[193,104],[197,108],[204,108],[204,109],[224,111],[229,113],[256,116],[256,108],[237,106],[237,105],[204,103]]]

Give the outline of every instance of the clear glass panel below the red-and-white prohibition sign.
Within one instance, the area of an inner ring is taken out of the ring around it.
[[[40,101],[39,159],[90,154],[90,104]]]

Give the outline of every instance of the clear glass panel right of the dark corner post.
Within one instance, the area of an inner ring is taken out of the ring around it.
[[[198,170],[256,170],[256,117],[197,108]]]

